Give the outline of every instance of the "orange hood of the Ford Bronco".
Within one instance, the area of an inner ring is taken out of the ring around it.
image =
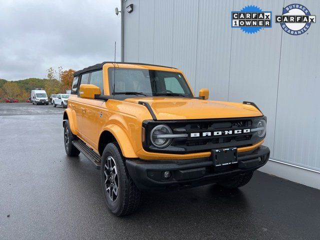
[[[262,116],[252,105],[184,97],[134,97],[124,101],[148,102],[158,120]]]

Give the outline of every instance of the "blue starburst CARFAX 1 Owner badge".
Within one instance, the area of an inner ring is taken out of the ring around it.
[[[240,11],[231,11],[231,27],[239,27],[248,34],[271,27],[271,11],[262,11],[259,7],[249,5]]]

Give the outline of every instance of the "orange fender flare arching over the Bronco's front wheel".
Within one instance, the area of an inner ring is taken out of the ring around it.
[[[135,151],[132,147],[129,137],[124,132],[124,130],[116,124],[109,124],[103,127],[101,133],[103,131],[109,131],[115,137],[117,143],[120,146],[122,151],[122,155],[128,158],[137,158],[138,156],[135,154]]]

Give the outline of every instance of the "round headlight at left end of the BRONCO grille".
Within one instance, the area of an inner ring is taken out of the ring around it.
[[[153,127],[150,132],[150,140],[154,146],[164,148],[171,143],[172,138],[166,138],[163,134],[172,134],[171,128],[164,124]]]

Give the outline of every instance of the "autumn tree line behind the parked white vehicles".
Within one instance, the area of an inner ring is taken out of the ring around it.
[[[46,70],[45,78],[26,78],[18,81],[8,81],[0,78],[0,102],[6,98],[15,98],[20,102],[26,101],[30,97],[31,90],[43,88],[50,96],[56,93],[65,93],[71,89],[73,73],[75,70],[63,70],[62,67],[54,69],[50,67]]]

